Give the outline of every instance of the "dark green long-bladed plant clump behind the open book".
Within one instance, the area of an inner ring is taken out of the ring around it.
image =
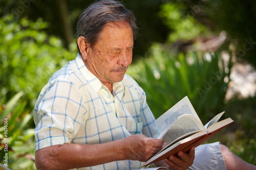
[[[128,71],[145,90],[156,117],[187,95],[205,123],[223,106],[229,80],[229,67],[224,67],[220,53],[188,53],[176,58],[160,44],[153,45],[150,56]]]

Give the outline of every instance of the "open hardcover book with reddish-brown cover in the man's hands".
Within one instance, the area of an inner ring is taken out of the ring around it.
[[[146,161],[145,165],[166,159],[179,151],[186,152],[198,147],[212,135],[234,122],[231,118],[219,119],[224,112],[212,118],[205,126],[202,124],[187,96],[156,119],[161,132],[159,139],[164,139],[167,146]]]

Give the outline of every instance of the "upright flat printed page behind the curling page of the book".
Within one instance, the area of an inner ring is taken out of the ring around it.
[[[187,96],[180,100],[176,105],[166,111],[156,119],[156,124],[161,132],[164,132],[174,121],[183,114],[190,114],[200,120],[195,109],[191,105]]]

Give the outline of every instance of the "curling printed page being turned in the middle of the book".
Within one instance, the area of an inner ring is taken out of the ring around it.
[[[172,143],[181,136],[185,136],[186,134],[199,130],[205,130],[201,121],[192,115],[184,114],[178,117],[172,126],[166,130],[165,134],[162,135],[162,139],[164,139],[164,141],[168,144]]]

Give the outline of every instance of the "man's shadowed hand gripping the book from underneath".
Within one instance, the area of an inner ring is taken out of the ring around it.
[[[176,156],[169,156],[165,159],[165,163],[170,170],[183,170],[188,169],[191,166],[195,159],[195,148],[191,148],[186,153],[180,151]]]

